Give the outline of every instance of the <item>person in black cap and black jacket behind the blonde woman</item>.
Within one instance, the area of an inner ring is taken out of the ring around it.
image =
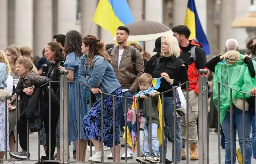
[[[161,57],[161,38],[162,37],[156,39],[155,48],[153,49],[153,52],[156,52],[156,54],[149,59],[145,67],[145,73],[152,74],[154,70],[153,63],[156,61],[157,58]]]

